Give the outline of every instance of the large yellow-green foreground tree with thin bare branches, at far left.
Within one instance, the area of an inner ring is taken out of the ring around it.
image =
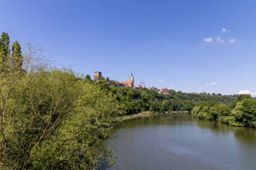
[[[19,82],[13,85],[2,110],[4,133],[1,142],[4,145],[1,160],[5,169],[30,167],[34,148],[51,136],[62,120],[73,112],[79,94],[71,72],[53,70],[27,74]]]

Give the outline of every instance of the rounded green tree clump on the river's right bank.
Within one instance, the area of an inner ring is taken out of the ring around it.
[[[256,99],[251,95],[239,95],[229,105],[217,102],[199,103],[193,108],[192,116],[232,126],[256,128]]]

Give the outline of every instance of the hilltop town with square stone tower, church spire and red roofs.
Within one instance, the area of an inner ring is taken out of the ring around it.
[[[100,71],[95,71],[94,72],[94,81],[99,81],[100,78],[102,78],[102,73]],[[133,89],[146,89],[146,85],[145,82],[143,81],[143,83],[139,83],[137,85],[134,85],[134,76],[133,73],[131,73],[131,76],[129,77],[129,80],[125,80],[125,81],[110,81],[109,78],[106,78],[106,81],[108,81],[109,84],[111,85],[116,85],[117,87],[131,87]],[[148,89],[150,90],[154,90],[157,91],[160,94],[169,94],[169,90],[166,88],[162,88],[162,89],[158,89],[156,87],[148,87]]]

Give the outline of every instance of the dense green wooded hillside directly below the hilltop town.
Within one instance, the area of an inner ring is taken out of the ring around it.
[[[169,90],[170,94],[161,94],[151,89],[132,89],[131,87],[117,87],[110,85],[109,79],[102,78],[96,84],[101,89],[110,91],[115,95],[117,101],[124,108],[126,114],[137,114],[139,112],[169,112],[169,111],[191,111],[201,101],[216,101],[230,104],[234,102],[237,95],[221,95],[210,93],[183,93],[181,91]],[[86,75],[86,81],[91,81]]]

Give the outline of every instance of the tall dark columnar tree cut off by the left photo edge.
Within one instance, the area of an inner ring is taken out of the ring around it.
[[[9,52],[9,35],[3,32],[0,39],[0,72],[5,71],[5,68],[9,65]]]

